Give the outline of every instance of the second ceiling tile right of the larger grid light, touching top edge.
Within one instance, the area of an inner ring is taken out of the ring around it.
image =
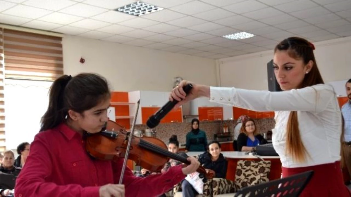
[[[229,11],[237,13],[237,14],[242,14],[242,13],[262,9],[265,7],[268,7],[268,6],[262,4],[258,1],[255,1],[255,0],[247,0],[247,1],[239,2],[237,4],[224,6],[223,9],[229,10]]]

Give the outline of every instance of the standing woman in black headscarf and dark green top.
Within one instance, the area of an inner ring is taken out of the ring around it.
[[[191,121],[191,131],[186,134],[185,152],[207,150],[207,137],[203,130],[199,129],[200,122],[197,118]]]

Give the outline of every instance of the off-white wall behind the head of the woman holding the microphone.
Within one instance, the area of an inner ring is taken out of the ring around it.
[[[351,37],[315,42],[314,46],[317,65],[325,83],[351,78]],[[220,86],[268,90],[267,62],[272,58],[273,49],[220,59]]]

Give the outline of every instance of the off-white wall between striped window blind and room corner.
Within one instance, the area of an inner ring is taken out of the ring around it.
[[[217,83],[216,62],[211,59],[69,35],[62,45],[65,74],[99,73],[115,91],[170,91],[176,76],[195,83]],[[79,62],[81,56],[84,64]]]

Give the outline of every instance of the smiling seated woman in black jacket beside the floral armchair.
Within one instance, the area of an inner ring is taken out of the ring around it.
[[[227,174],[228,162],[220,153],[220,143],[217,141],[212,141],[208,144],[208,151],[199,155],[200,164],[207,170],[213,170],[216,172],[216,178],[225,178]],[[198,195],[198,192],[193,188],[193,186],[187,181],[183,180],[181,184],[181,190],[183,196],[194,197]]]

